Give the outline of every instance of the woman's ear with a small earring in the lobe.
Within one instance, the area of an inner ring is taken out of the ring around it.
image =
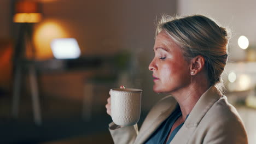
[[[196,56],[190,61],[190,75],[196,75],[205,67],[205,58],[203,56]]]

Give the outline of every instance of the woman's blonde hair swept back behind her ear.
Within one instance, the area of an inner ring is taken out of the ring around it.
[[[156,35],[161,31],[165,31],[181,47],[188,61],[195,56],[203,56],[210,86],[216,86],[222,92],[223,82],[220,75],[228,59],[230,38],[227,30],[203,15],[163,15],[158,22]]]

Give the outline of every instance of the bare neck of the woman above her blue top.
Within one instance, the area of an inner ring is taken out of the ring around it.
[[[208,88],[209,86],[206,81],[191,82],[188,87],[171,93],[181,107],[183,121],[185,121],[187,115],[192,111],[201,95],[205,93]]]

